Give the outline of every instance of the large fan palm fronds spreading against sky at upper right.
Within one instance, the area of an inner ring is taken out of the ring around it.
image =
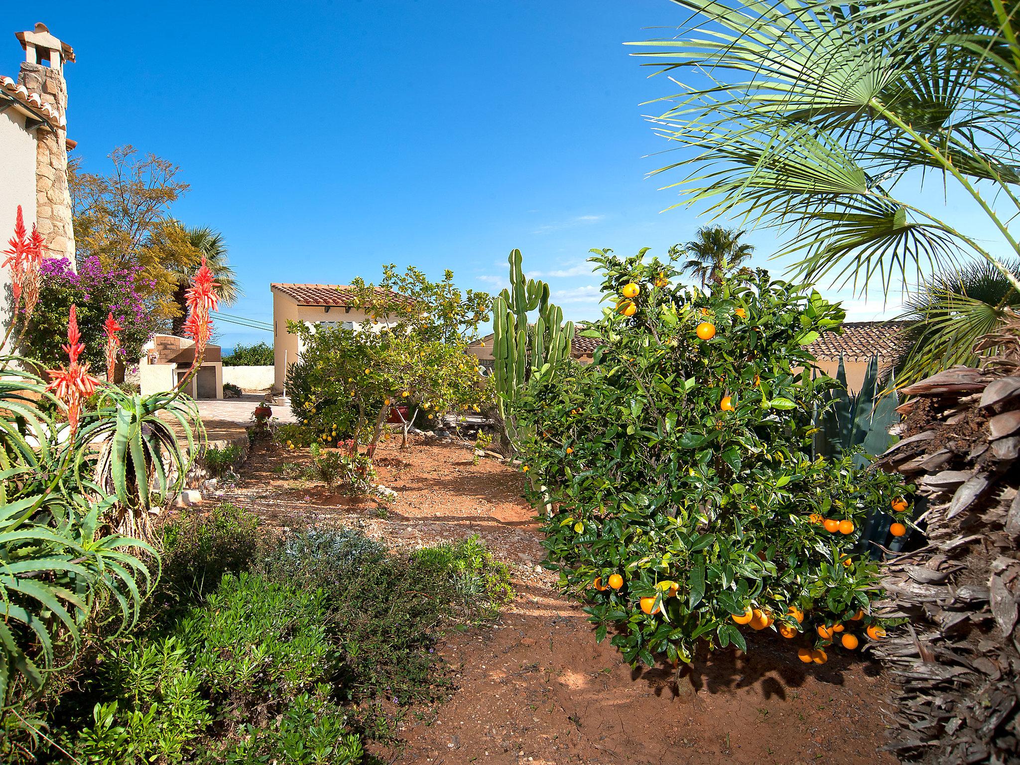
[[[809,280],[888,295],[976,254],[1020,290],[1017,0],[673,2],[688,26],[635,44],[681,89],[650,119],[683,153],[657,172],[687,171],[688,204],[784,228]],[[925,181],[972,200],[967,231]]]

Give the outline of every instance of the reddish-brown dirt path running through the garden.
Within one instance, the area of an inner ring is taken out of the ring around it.
[[[894,763],[884,744],[884,682],[866,658],[831,652],[806,667],[774,635],[753,635],[748,655],[723,651],[702,663],[696,694],[679,695],[669,670],[631,670],[585,616],[561,598],[543,559],[521,476],[492,460],[471,464],[456,445],[384,448],[379,480],[399,493],[388,510],[322,487],[279,477],[293,461],[256,448],[246,476],[223,500],[267,521],[361,525],[394,548],[477,533],[510,563],[517,598],[492,628],[454,632],[440,650],[458,690],[427,722],[410,722],[400,762],[513,763]],[[690,687],[690,686],[687,686]]]

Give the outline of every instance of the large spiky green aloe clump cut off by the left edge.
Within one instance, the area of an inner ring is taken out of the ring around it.
[[[66,658],[97,601],[134,623],[152,583],[134,553],[146,543],[99,537],[112,500],[74,474],[75,443],[49,411],[62,404],[23,360],[0,359],[0,704],[18,676],[31,687]],[[140,585],[141,584],[141,585]],[[69,648],[61,646],[69,639]]]

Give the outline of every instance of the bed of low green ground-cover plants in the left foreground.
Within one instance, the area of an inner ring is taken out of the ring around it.
[[[439,631],[512,595],[473,538],[413,554],[343,526],[267,538],[224,504],[161,540],[142,626],[95,642],[60,693],[19,710],[46,738],[13,761],[365,762],[364,738],[396,743],[408,705],[449,693]]]

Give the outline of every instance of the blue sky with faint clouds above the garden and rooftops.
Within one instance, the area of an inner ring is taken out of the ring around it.
[[[271,282],[373,280],[389,262],[495,291],[518,247],[579,319],[600,310],[590,248],[661,253],[707,222],[661,212],[675,196],[646,173],[665,142],[640,104],[674,86],[623,46],[684,19],[667,0],[54,0],[4,14],[0,73],[21,58],[9,33],[37,20],[74,47],[76,154],[105,171],[133,144],[182,167],[172,212],[224,234],[246,294],[231,313],[268,321]],[[775,236],[749,239],[767,265]],[[219,329],[226,347],[270,340]]]

